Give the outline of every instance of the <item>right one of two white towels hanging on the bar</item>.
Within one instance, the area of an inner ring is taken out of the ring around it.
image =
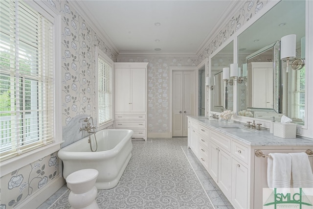
[[[313,188],[313,174],[308,155],[304,152],[291,155],[291,173],[294,188]]]

